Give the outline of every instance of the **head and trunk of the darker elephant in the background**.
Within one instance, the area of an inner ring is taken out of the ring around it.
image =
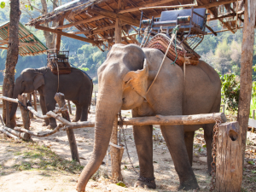
[[[37,69],[27,68],[20,73],[15,81],[13,98],[18,98],[22,93],[31,93],[44,84],[44,75]],[[17,103],[13,103],[10,119],[13,119],[17,110]]]

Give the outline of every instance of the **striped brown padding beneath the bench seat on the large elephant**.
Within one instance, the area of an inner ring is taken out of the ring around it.
[[[148,41],[145,47],[160,49],[160,51],[162,51],[163,54],[166,54],[166,49],[168,48],[170,41],[171,41],[171,38],[169,38],[166,34],[159,33],[155,35],[154,38],[152,38],[150,41]],[[172,45],[166,55],[172,61],[175,61],[175,58],[176,58],[174,41],[172,42]],[[180,41],[177,39],[177,44],[179,44],[179,42]],[[183,66],[183,63],[185,62],[185,57],[189,57],[189,62],[186,62],[187,65],[188,64],[197,65],[201,57],[200,55],[195,53],[193,49],[190,49],[189,45],[185,44],[184,42],[179,46],[176,45],[176,51],[177,51],[177,60],[175,61],[175,63],[179,66]]]

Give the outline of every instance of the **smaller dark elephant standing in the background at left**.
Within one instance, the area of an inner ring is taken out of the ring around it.
[[[58,86],[57,75],[51,73],[49,67],[38,69],[27,68],[20,73],[16,79],[14,87],[14,98],[19,94],[31,93],[38,90],[40,94],[40,105],[42,113],[55,109],[55,93]],[[72,101],[76,105],[75,121],[87,120],[88,108],[90,106],[93,84],[89,76],[76,68],[71,69],[70,74],[61,74],[59,81],[59,92],[65,95],[65,99]],[[14,103],[10,112],[10,118],[14,118],[17,104]],[[55,128],[54,118],[45,120],[46,125]]]

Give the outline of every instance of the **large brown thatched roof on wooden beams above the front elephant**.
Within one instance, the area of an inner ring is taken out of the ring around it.
[[[98,46],[103,42],[108,42],[108,45],[113,44],[115,21],[119,18],[122,20],[123,42],[137,43],[135,38],[137,33],[129,34],[128,31],[133,26],[139,26],[140,8],[191,3],[196,3],[195,8],[207,8],[207,12],[211,14],[208,20],[220,20],[224,28],[231,32],[234,32],[234,28],[237,27],[236,23],[241,26],[243,22],[243,1],[237,0],[75,0],[47,15],[31,20],[26,25]],[[150,18],[159,17],[163,10],[166,9],[146,9],[143,12]],[[69,22],[68,24],[52,28],[44,26],[46,23],[64,18]],[[61,31],[71,26],[75,26],[78,31]],[[209,26],[207,28],[216,35]],[[133,27],[133,29],[137,31],[136,28]],[[78,34],[84,34],[85,38]]]

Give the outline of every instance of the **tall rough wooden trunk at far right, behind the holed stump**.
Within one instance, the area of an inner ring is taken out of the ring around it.
[[[244,24],[243,38],[241,44],[241,83],[240,96],[238,104],[238,122],[241,132],[241,153],[242,162],[244,161],[244,153],[247,141],[247,126],[250,114],[250,103],[252,93],[252,67],[253,67],[253,42],[254,42],[254,25],[256,15],[256,1],[250,1],[250,6],[245,1],[244,7]],[[250,16],[248,15],[250,9]],[[250,18],[249,18],[250,17]]]

